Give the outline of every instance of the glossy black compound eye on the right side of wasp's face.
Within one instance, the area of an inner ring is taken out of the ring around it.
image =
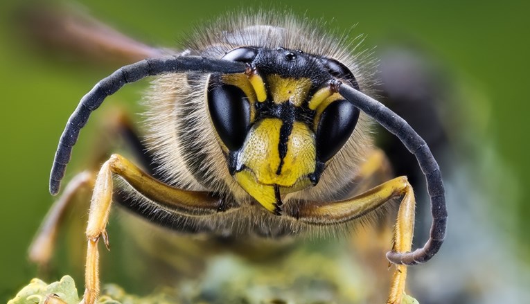
[[[317,156],[328,161],[350,138],[359,119],[359,109],[347,100],[335,100],[322,112],[317,128]]]

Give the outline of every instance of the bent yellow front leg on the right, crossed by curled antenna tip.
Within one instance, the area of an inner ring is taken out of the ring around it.
[[[380,186],[372,188],[351,199],[324,204],[306,204],[301,206],[297,217],[301,222],[312,225],[333,225],[348,222],[376,210],[396,197],[403,197],[396,220],[394,233],[394,251],[410,251],[414,234],[414,191],[407,177],[396,177]],[[405,291],[407,267],[396,265],[392,277],[387,303],[400,304]]]

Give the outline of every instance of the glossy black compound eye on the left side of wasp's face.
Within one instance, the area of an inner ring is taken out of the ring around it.
[[[250,105],[245,93],[234,85],[211,81],[208,107],[213,126],[224,145],[231,151],[239,150],[250,124]]]

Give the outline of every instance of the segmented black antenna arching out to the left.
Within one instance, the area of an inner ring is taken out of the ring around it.
[[[243,73],[247,64],[229,60],[215,60],[199,56],[167,56],[142,60],[123,66],[112,75],[104,78],[81,98],[78,107],[70,116],[62,132],[53,167],[50,174],[50,193],[56,195],[61,186],[64,172],[70,161],[72,147],[76,144],[79,132],[87,124],[92,111],[97,109],[107,96],[110,96],[125,84],[136,82],[148,76],[162,73]]]

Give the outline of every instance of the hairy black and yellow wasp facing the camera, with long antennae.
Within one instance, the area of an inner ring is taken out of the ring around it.
[[[52,195],[60,192],[80,130],[105,98],[125,84],[154,77],[145,102],[146,139],[130,132],[143,166],[112,154],[97,174],[74,177],[35,239],[33,260],[48,258],[71,197],[93,189],[82,302],[95,303],[98,242],[109,247],[107,222],[113,197],[119,196],[115,178],[126,189],[115,201],[149,222],[242,241],[335,231],[400,199],[387,253],[396,265],[387,303],[401,303],[407,266],[430,260],[445,238],[443,181],[423,138],[371,97],[370,73],[347,39],[292,15],[258,12],[202,27],[181,51],[129,42],[126,52],[143,60],[100,80],[80,100],[60,136],[49,189]],[[98,43],[116,41],[123,39]],[[127,121],[117,124],[131,129]],[[358,181],[382,170],[372,122],[414,154],[427,181],[432,228],[429,240],[414,251],[416,199],[407,177],[357,188]]]

